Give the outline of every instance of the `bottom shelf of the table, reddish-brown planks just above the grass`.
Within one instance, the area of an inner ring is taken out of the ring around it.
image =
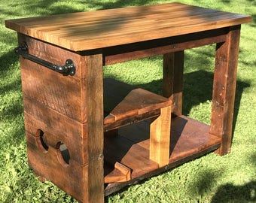
[[[105,136],[104,157],[108,163],[105,164],[105,177],[116,174],[116,162],[131,169],[131,180],[106,183],[105,195],[203,156],[221,144],[221,138],[209,134],[209,125],[184,116],[175,117],[172,119],[169,165],[159,168],[157,162],[149,159],[149,124],[149,120],[145,120],[119,129],[116,136]]]

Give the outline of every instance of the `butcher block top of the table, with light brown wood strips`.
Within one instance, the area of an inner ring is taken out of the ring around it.
[[[5,26],[32,38],[80,51],[249,22],[248,15],[168,3],[6,20]]]

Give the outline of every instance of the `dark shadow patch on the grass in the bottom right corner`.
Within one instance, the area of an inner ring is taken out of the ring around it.
[[[242,203],[256,201],[256,181],[251,181],[243,186],[234,186],[227,183],[218,188],[211,203]]]

